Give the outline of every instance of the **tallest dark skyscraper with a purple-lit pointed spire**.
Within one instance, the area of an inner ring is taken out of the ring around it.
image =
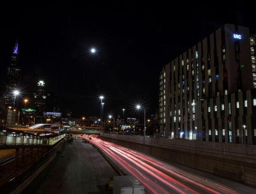
[[[13,91],[17,90],[19,84],[20,68],[18,67],[18,53],[18,41],[16,41],[11,57],[11,65],[7,67],[6,91],[3,95],[6,106],[13,105]]]

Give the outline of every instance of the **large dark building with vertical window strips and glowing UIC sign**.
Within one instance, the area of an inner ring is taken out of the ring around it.
[[[255,144],[255,38],[249,28],[226,24],[163,67],[165,137]]]

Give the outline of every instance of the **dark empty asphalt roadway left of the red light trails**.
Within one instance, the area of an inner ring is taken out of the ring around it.
[[[67,143],[46,178],[40,180],[36,193],[108,194],[111,191],[106,191],[107,180],[116,175],[115,170],[91,144],[77,139]]]

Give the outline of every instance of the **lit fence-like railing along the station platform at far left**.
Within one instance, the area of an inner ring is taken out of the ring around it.
[[[29,134],[22,134],[9,131],[0,131],[0,145],[54,145],[66,135],[42,138]]]

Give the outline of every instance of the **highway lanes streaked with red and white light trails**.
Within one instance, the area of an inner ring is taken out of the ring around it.
[[[86,136],[84,138],[88,139]],[[243,193],[243,191],[233,188],[232,185],[230,187],[226,186],[202,175],[193,174],[182,168],[177,168],[161,160],[141,154],[135,150],[102,141],[97,137],[91,137],[88,140],[117,162],[125,172],[135,176],[145,186],[146,193]]]

